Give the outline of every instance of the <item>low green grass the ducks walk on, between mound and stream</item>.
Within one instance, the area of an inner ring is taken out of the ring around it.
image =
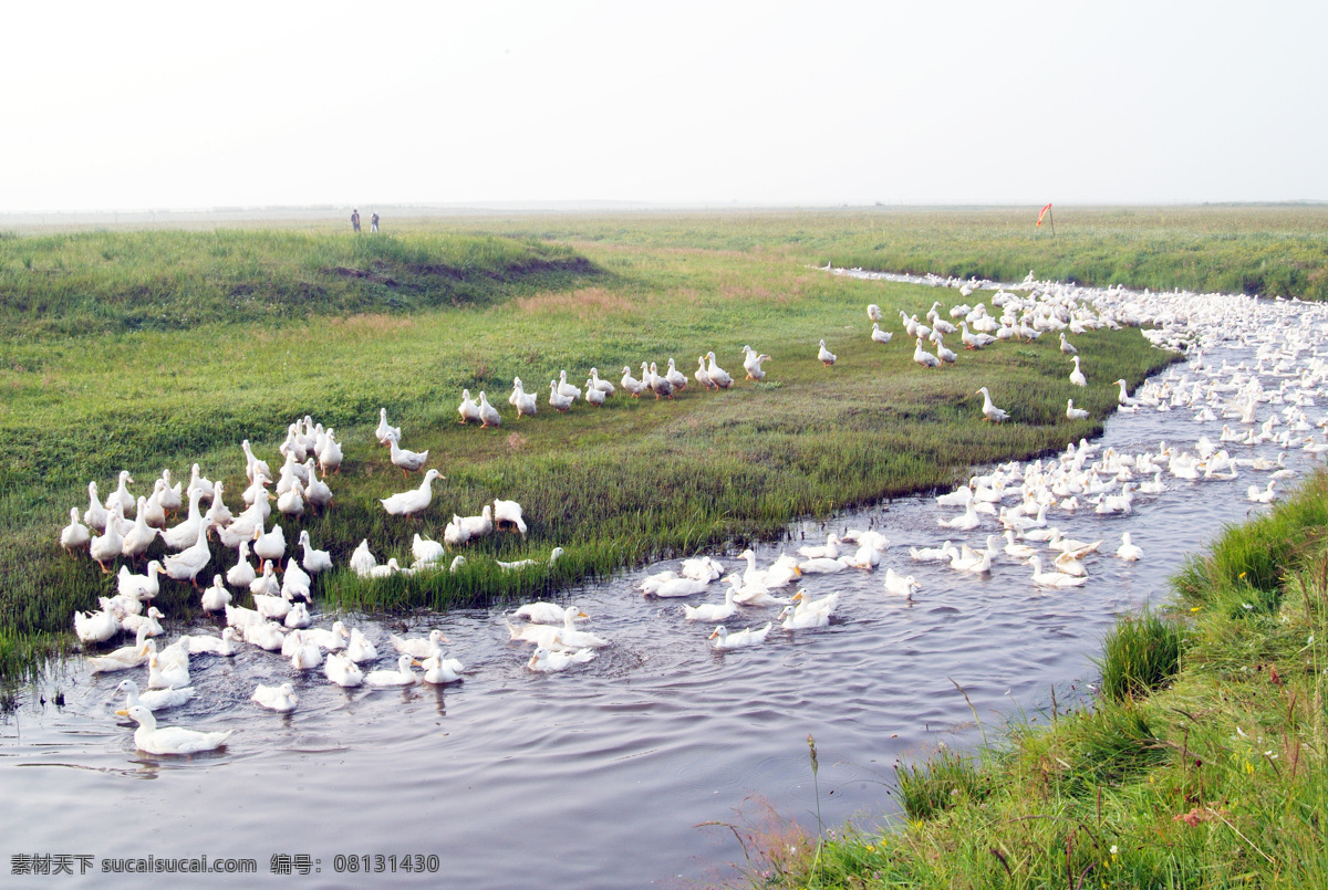
[[[73,610],[113,590],[96,565],[56,545],[69,508],[86,507],[89,480],[98,480],[105,496],[127,468],[138,480],[133,491],[146,493],[162,467],[187,477],[198,462],[226,483],[235,504],[243,488],[240,439],[275,467],[287,424],[305,414],[337,430],[347,462],[331,480],[332,509],[286,523],[287,537],[308,528],[341,565],[361,539],[380,560],[409,561],[412,536],[441,540],[453,513],[477,513],[495,496],[525,505],[529,537],[469,546],[470,565],[457,576],[367,582],[340,572],[316,589],[332,607],[441,609],[547,593],[653,557],[778,536],[798,516],[948,484],[973,463],[1062,448],[1097,431],[1116,403],[1110,381],[1134,385],[1171,358],[1138,332],[1096,332],[1078,338],[1088,391],[1072,391],[1068,365],[1049,338],[1001,344],[964,354],[955,367],[924,371],[902,336],[887,346],[871,342],[863,309],[876,302],[891,316],[922,313],[938,297],[957,297],[954,292],[839,279],[762,249],[712,249],[712,233],[699,228],[687,248],[653,247],[639,235],[552,245],[550,255],[574,257],[572,265],[594,268],[594,277],[517,285],[502,298],[461,306],[279,321],[234,308],[223,321],[187,330],[44,329],[7,341],[0,517],[9,533],[0,540],[0,674],[21,675],[42,653],[68,643]],[[244,236],[274,237],[226,235]],[[421,231],[418,237],[450,243],[490,235]],[[206,239],[181,244],[211,249]],[[159,272],[195,263],[163,260]],[[822,337],[839,354],[833,369],[815,359]],[[695,357],[713,349],[741,377],[744,344],[774,355],[760,385],[741,381],[725,393],[693,386],[657,403],[618,397],[604,409],[578,403],[566,415],[547,407],[547,381],[560,369],[578,385],[591,366],[616,381],[623,365],[639,374],[641,361],[663,365],[672,355],[691,373]],[[506,406],[517,375],[543,394],[534,418],[515,420]],[[975,390],[983,385],[1013,423],[980,422]],[[503,409],[503,426],[458,426],[462,387],[486,390]],[[1070,395],[1094,419],[1065,419]],[[378,407],[404,428],[402,444],[428,448],[430,466],[448,476],[418,523],[392,520],[376,503],[418,484],[404,480],[373,440]],[[567,557],[551,570],[499,574],[491,561],[542,557],[554,546]],[[234,558],[219,548],[214,556],[207,578]],[[163,609],[187,617],[195,596],[170,584]]]

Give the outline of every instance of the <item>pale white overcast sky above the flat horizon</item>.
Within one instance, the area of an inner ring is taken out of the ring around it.
[[[1328,199],[1328,3],[25,3],[0,212]]]

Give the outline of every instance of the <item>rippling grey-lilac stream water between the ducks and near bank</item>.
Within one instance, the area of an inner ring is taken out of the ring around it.
[[[1235,362],[1252,351],[1215,351],[1208,361],[1223,357]],[[1159,440],[1215,439],[1216,426],[1197,424],[1186,411],[1118,415],[1102,443],[1153,451]],[[1239,456],[1276,452],[1260,446]],[[1304,472],[1315,462],[1293,452],[1288,466]],[[991,577],[910,562],[908,548],[938,545],[946,529],[936,519],[954,512],[930,499],[798,525],[793,539],[879,528],[891,549],[875,573],[805,578],[813,597],[842,594],[829,627],[790,634],[777,625],[749,650],[714,653],[705,639],[712,627],[681,619],[680,604],[700,597],[659,601],[636,592],[671,562],[568,597],[612,646],[562,674],[529,672],[530,650],[487,610],[416,627],[441,627],[450,654],[466,665],[465,680],[445,688],[343,690],[316,671],[292,678],[284,661],[254,649],[234,659],[195,658],[197,696],[162,723],[236,732],[226,749],[191,757],[135,752],[131,724],[113,714],[120,678],[90,675],[74,661],[49,678],[65,691],[65,707],[28,703],[0,723],[3,836],[11,856],[254,857],[259,881],[270,883],[295,879],[266,874],[276,853],[311,854],[329,877],[339,854],[440,857],[438,874],[397,873],[393,886],[440,878],[469,887],[636,886],[724,874],[724,862],[741,858],[732,834],[695,826],[732,818],[749,796],[809,826],[818,804],[829,825],[854,817],[871,824],[894,806],[886,793],[892,764],[940,741],[975,743],[975,712],[995,727],[1011,714],[1040,719],[1053,687],[1062,706],[1082,699],[1090,658],[1114,617],[1163,600],[1187,553],[1223,525],[1267,509],[1244,500],[1246,476],[1252,474],[1170,480],[1170,491],[1139,496],[1125,517],[1053,513],[1066,535],[1105,539],[1108,552],[1127,529],[1145,553],[1135,564],[1093,554],[1089,584],[1070,590],[1035,588],[1031,570],[1004,554]],[[993,531],[987,519],[950,537],[976,546]],[[780,550],[761,548],[760,564]],[[734,554],[724,561],[741,565]],[[914,602],[884,593],[886,568],[918,578]],[[718,584],[712,592],[709,601],[722,598]],[[741,623],[760,626],[777,611],[749,610]],[[386,625],[363,615],[348,623],[390,651]],[[256,683],[286,679],[300,696],[295,714],[248,702]],[[809,732],[819,752],[819,802]],[[138,879],[110,883],[117,881]]]

